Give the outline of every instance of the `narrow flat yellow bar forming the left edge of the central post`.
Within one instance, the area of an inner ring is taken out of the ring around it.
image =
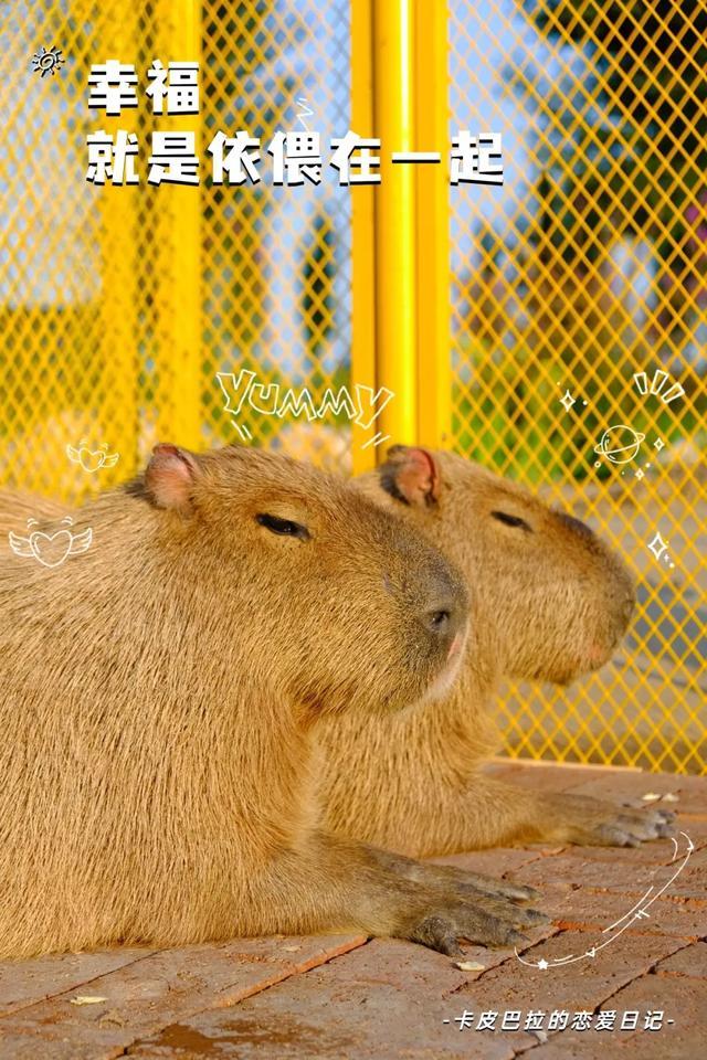
[[[370,0],[351,2],[351,128],[359,136],[373,129],[372,11]],[[352,184],[351,194],[351,391],[377,385],[374,197],[378,188]],[[377,424],[352,425],[354,474],[376,465],[372,439]],[[366,448],[363,447],[366,446]]]

